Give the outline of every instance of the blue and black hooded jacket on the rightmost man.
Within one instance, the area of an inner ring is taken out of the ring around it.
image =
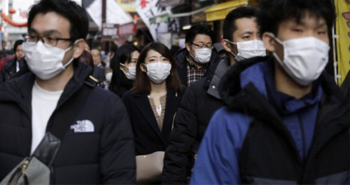
[[[273,69],[255,57],[225,74],[227,107],[209,123],[191,184],[349,181],[349,100],[325,73],[299,100],[279,93]]]

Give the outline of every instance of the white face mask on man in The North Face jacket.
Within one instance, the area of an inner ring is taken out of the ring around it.
[[[42,41],[37,43],[23,43],[23,51],[25,52],[25,60],[28,67],[38,78],[48,80],[61,73],[71,64],[73,58],[62,64],[64,54],[72,48],[65,50],[55,46],[44,46]]]

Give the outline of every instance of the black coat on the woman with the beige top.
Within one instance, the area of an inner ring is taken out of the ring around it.
[[[155,120],[151,104],[146,93],[135,94],[128,91],[123,96],[134,131],[136,155],[146,155],[155,151],[165,151],[168,146],[174,115],[181,101],[182,93],[167,89],[167,104],[162,131]]]

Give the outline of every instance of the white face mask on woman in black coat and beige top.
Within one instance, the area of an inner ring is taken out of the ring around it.
[[[162,83],[165,81],[170,74],[170,69],[172,69],[172,64],[163,62],[144,64],[144,66],[147,68],[148,78],[154,83]]]

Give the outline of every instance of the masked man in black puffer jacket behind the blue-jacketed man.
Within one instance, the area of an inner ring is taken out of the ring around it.
[[[190,177],[198,146],[214,112],[223,106],[218,93],[218,84],[225,72],[239,61],[239,57],[251,57],[259,54],[258,27],[255,23],[256,8],[241,7],[231,11],[223,25],[223,46],[229,53],[216,63],[211,64],[209,75],[191,85],[176,113],[174,130],[165,153],[165,165],[162,179],[164,184],[187,184]],[[249,32],[250,34],[247,34]],[[246,37],[242,38],[242,35]],[[232,44],[232,41],[236,44]],[[259,41],[261,42],[261,41]],[[237,44],[253,43],[251,50],[244,53]],[[237,52],[238,50],[238,52]],[[265,47],[260,55],[265,55]]]

